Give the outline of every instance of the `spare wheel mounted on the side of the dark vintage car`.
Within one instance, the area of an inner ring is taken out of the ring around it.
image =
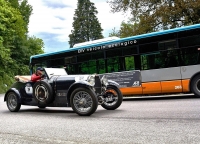
[[[46,81],[38,81],[33,85],[33,97],[39,106],[45,107],[53,101],[53,90]]]

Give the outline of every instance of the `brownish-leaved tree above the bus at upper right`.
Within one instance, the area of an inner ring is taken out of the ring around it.
[[[140,33],[200,22],[199,0],[108,0],[112,12],[131,11]]]

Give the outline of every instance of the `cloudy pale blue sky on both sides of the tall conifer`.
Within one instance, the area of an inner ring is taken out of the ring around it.
[[[90,1],[97,8],[97,18],[105,38],[113,28],[118,30],[121,22],[128,19],[122,12],[112,13],[107,0]],[[29,35],[43,40],[46,53],[69,49],[68,36],[73,30],[77,0],[28,0],[28,3],[33,7]]]

